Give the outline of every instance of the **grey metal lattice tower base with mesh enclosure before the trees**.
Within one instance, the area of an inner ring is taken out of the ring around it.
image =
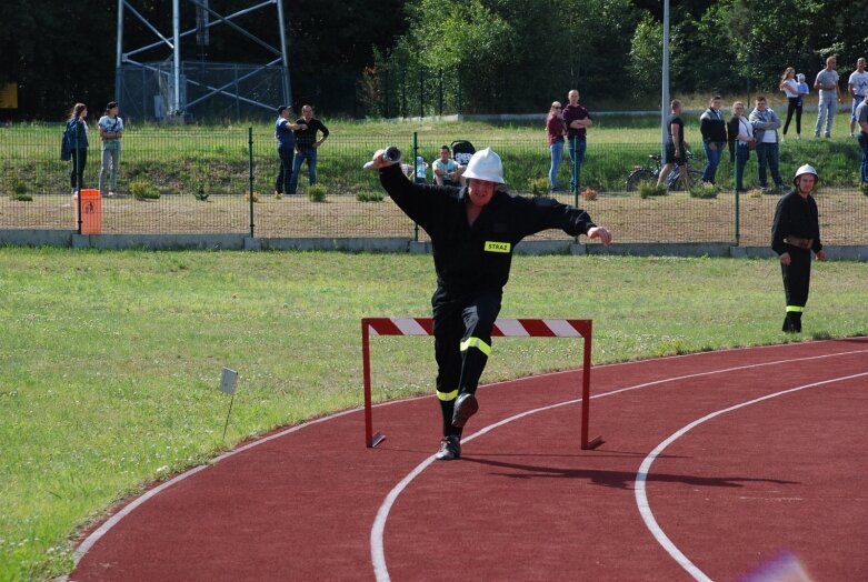
[[[280,103],[292,102],[283,0],[262,0],[228,16],[212,10],[209,0],[183,0],[184,6],[191,4],[196,10],[194,26],[187,30],[182,30],[181,0],[171,0],[171,32],[167,33],[148,19],[143,8],[137,9],[137,3],[154,6],[152,1],[118,0],[116,100],[127,117],[156,120],[258,117],[263,110],[273,111]],[[269,8],[277,11],[273,20],[278,23],[279,47],[238,23],[241,17]],[[161,16],[164,22],[164,13]],[[187,20],[192,21],[192,18]],[[139,47],[124,47],[124,27],[133,24],[143,27],[156,40]],[[271,60],[265,63],[204,60],[214,27],[221,27],[221,31],[231,30],[245,41],[265,49]],[[196,36],[199,60],[190,59],[193,54],[184,60],[181,53],[182,40],[191,36]],[[146,60],[154,54],[161,60]]]

